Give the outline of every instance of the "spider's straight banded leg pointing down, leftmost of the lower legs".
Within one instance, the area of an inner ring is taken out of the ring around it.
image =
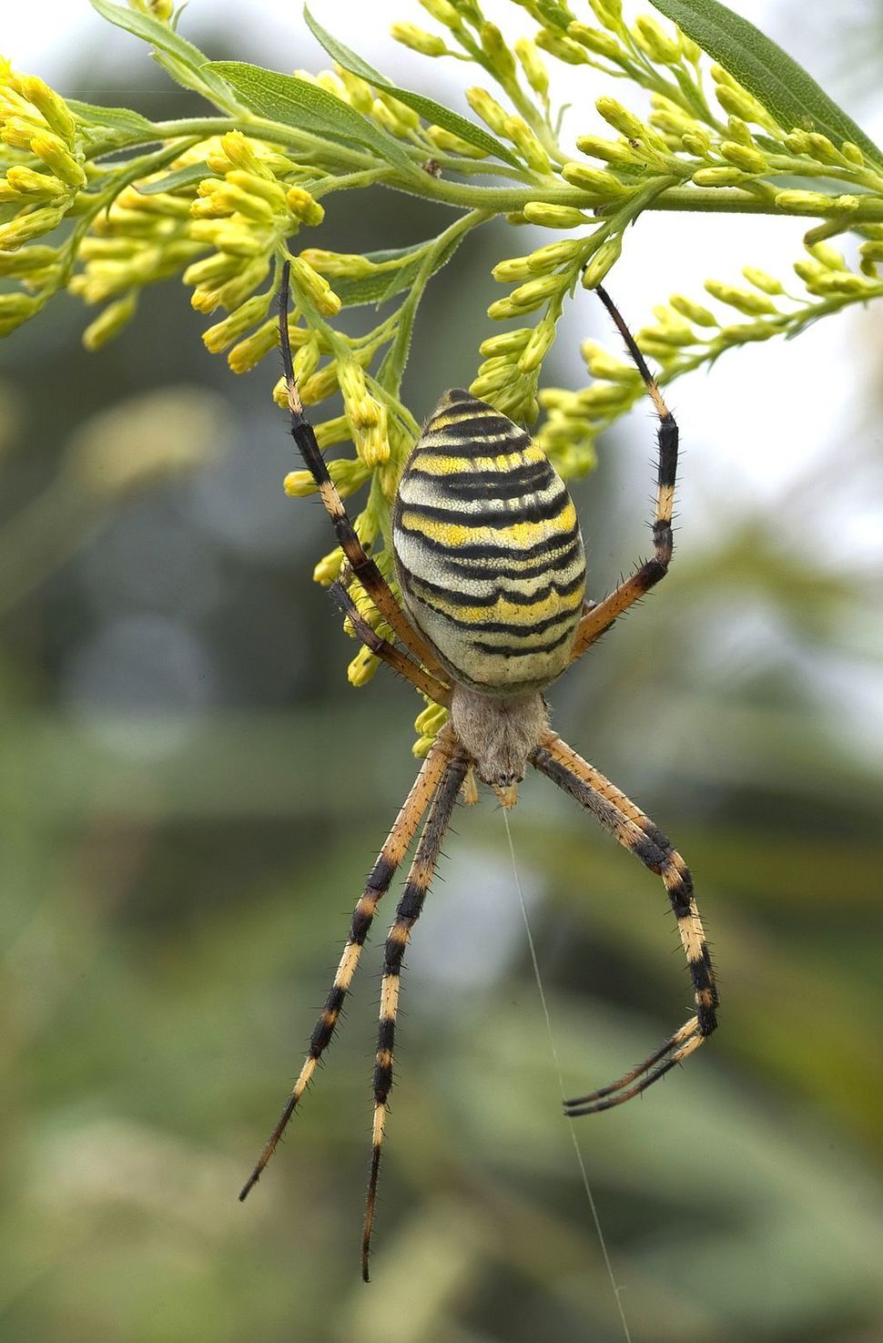
[[[267,1146],[260,1154],[258,1164],[242,1189],[239,1195],[240,1201],[247,1198],[251,1189],[260,1179],[264,1166],[275,1152],[276,1144],[318,1066],[319,1058],[331,1042],[331,1035],[334,1034],[334,1027],[340,1018],[344,999],[353,982],[353,975],[356,974],[356,967],[358,966],[358,958],[361,956],[365,939],[368,937],[377,904],[380,902],[381,896],[384,896],[389,889],[389,884],[396,874],[399,864],[408,851],[411,841],[413,839],[417,826],[420,825],[420,819],[429,804],[429,799],[439,787],[439,780],[443,778],[447,768],[451,739],[452,733],[447,728],[439,733],[436,744],[424,760],[420,774],[417,775],[411,792],[405,798],[401,811],[396,817],[386,843],[380,850],[380,857],[372,869],[372,873],[365,884],[365,889],[362,890],[358,904],[353,912],[353,921],[349,937],[346,939],[346,945],[344,947],[344,955],[341,956],[341,963],[337,967],[334,983],[329,991],[322,1015],[317,1021],[313,1030],[310,1048],[306,1060],[303,1061],[301,1074],[284,1104],[279,1123],[274,1128]]]

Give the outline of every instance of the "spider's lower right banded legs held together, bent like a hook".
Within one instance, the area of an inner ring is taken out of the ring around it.
[[[690,870],[676,849],[644,813],[599,774],[554,732],[546,733],[530,756],[531,764],[568,792],[581,807],[609,830],[645,868],[658,873],[668,892],[678,920],[680,943],[692,979],[696,1014],[655,1050],[643,1064],[609,1086],[577,1096],[565,1103],[576,1117],[620,1105],[640,1095],[663,1077],[675,1064],[683,1062],[699,1048],[717,1026],[718,992],[714,983],[711,955],[702,920],[692,894]]]

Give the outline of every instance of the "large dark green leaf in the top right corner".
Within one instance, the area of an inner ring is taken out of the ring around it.
[[[786,51],[718,0],[652,0],[656,9],[723,66],[785,130],[851,140],[883,165],[883,150]]]

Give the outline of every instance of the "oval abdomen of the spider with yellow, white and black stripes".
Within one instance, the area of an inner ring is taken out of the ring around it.
[[[405,607],[458,681],[510,694],[565,669],[585,590],[576,509],[506,415],[444,393],[399,482],[393,548]]]

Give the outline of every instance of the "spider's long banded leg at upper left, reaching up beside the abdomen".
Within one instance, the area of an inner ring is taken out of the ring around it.
[[[362,584],[372,602],[393,630],[396,638],[415,655],[417,662],[423,662],[431,672],[440,672],[440,666],[424,639],[409,624],[404,611],[396,602],[389,584],[377,568],[376,561],[366,553],[362,543],[356,535],[356,528],[350,522],[344,508],[344,501],[329,475],[325,458],[315,442],[313,426],[303,415],[303,403],[294,380],[294,364],[291,361],[291,341],[289,340],[289,263],[282,267],[282,285],[279,287],[279,348],[282,351],[282,367],[289,388],[289,410],[291,412],[291,438],[298,445],[303,465],[313,475],[319,488],[319,497],[325,505],[338,544],[346,560]]]

